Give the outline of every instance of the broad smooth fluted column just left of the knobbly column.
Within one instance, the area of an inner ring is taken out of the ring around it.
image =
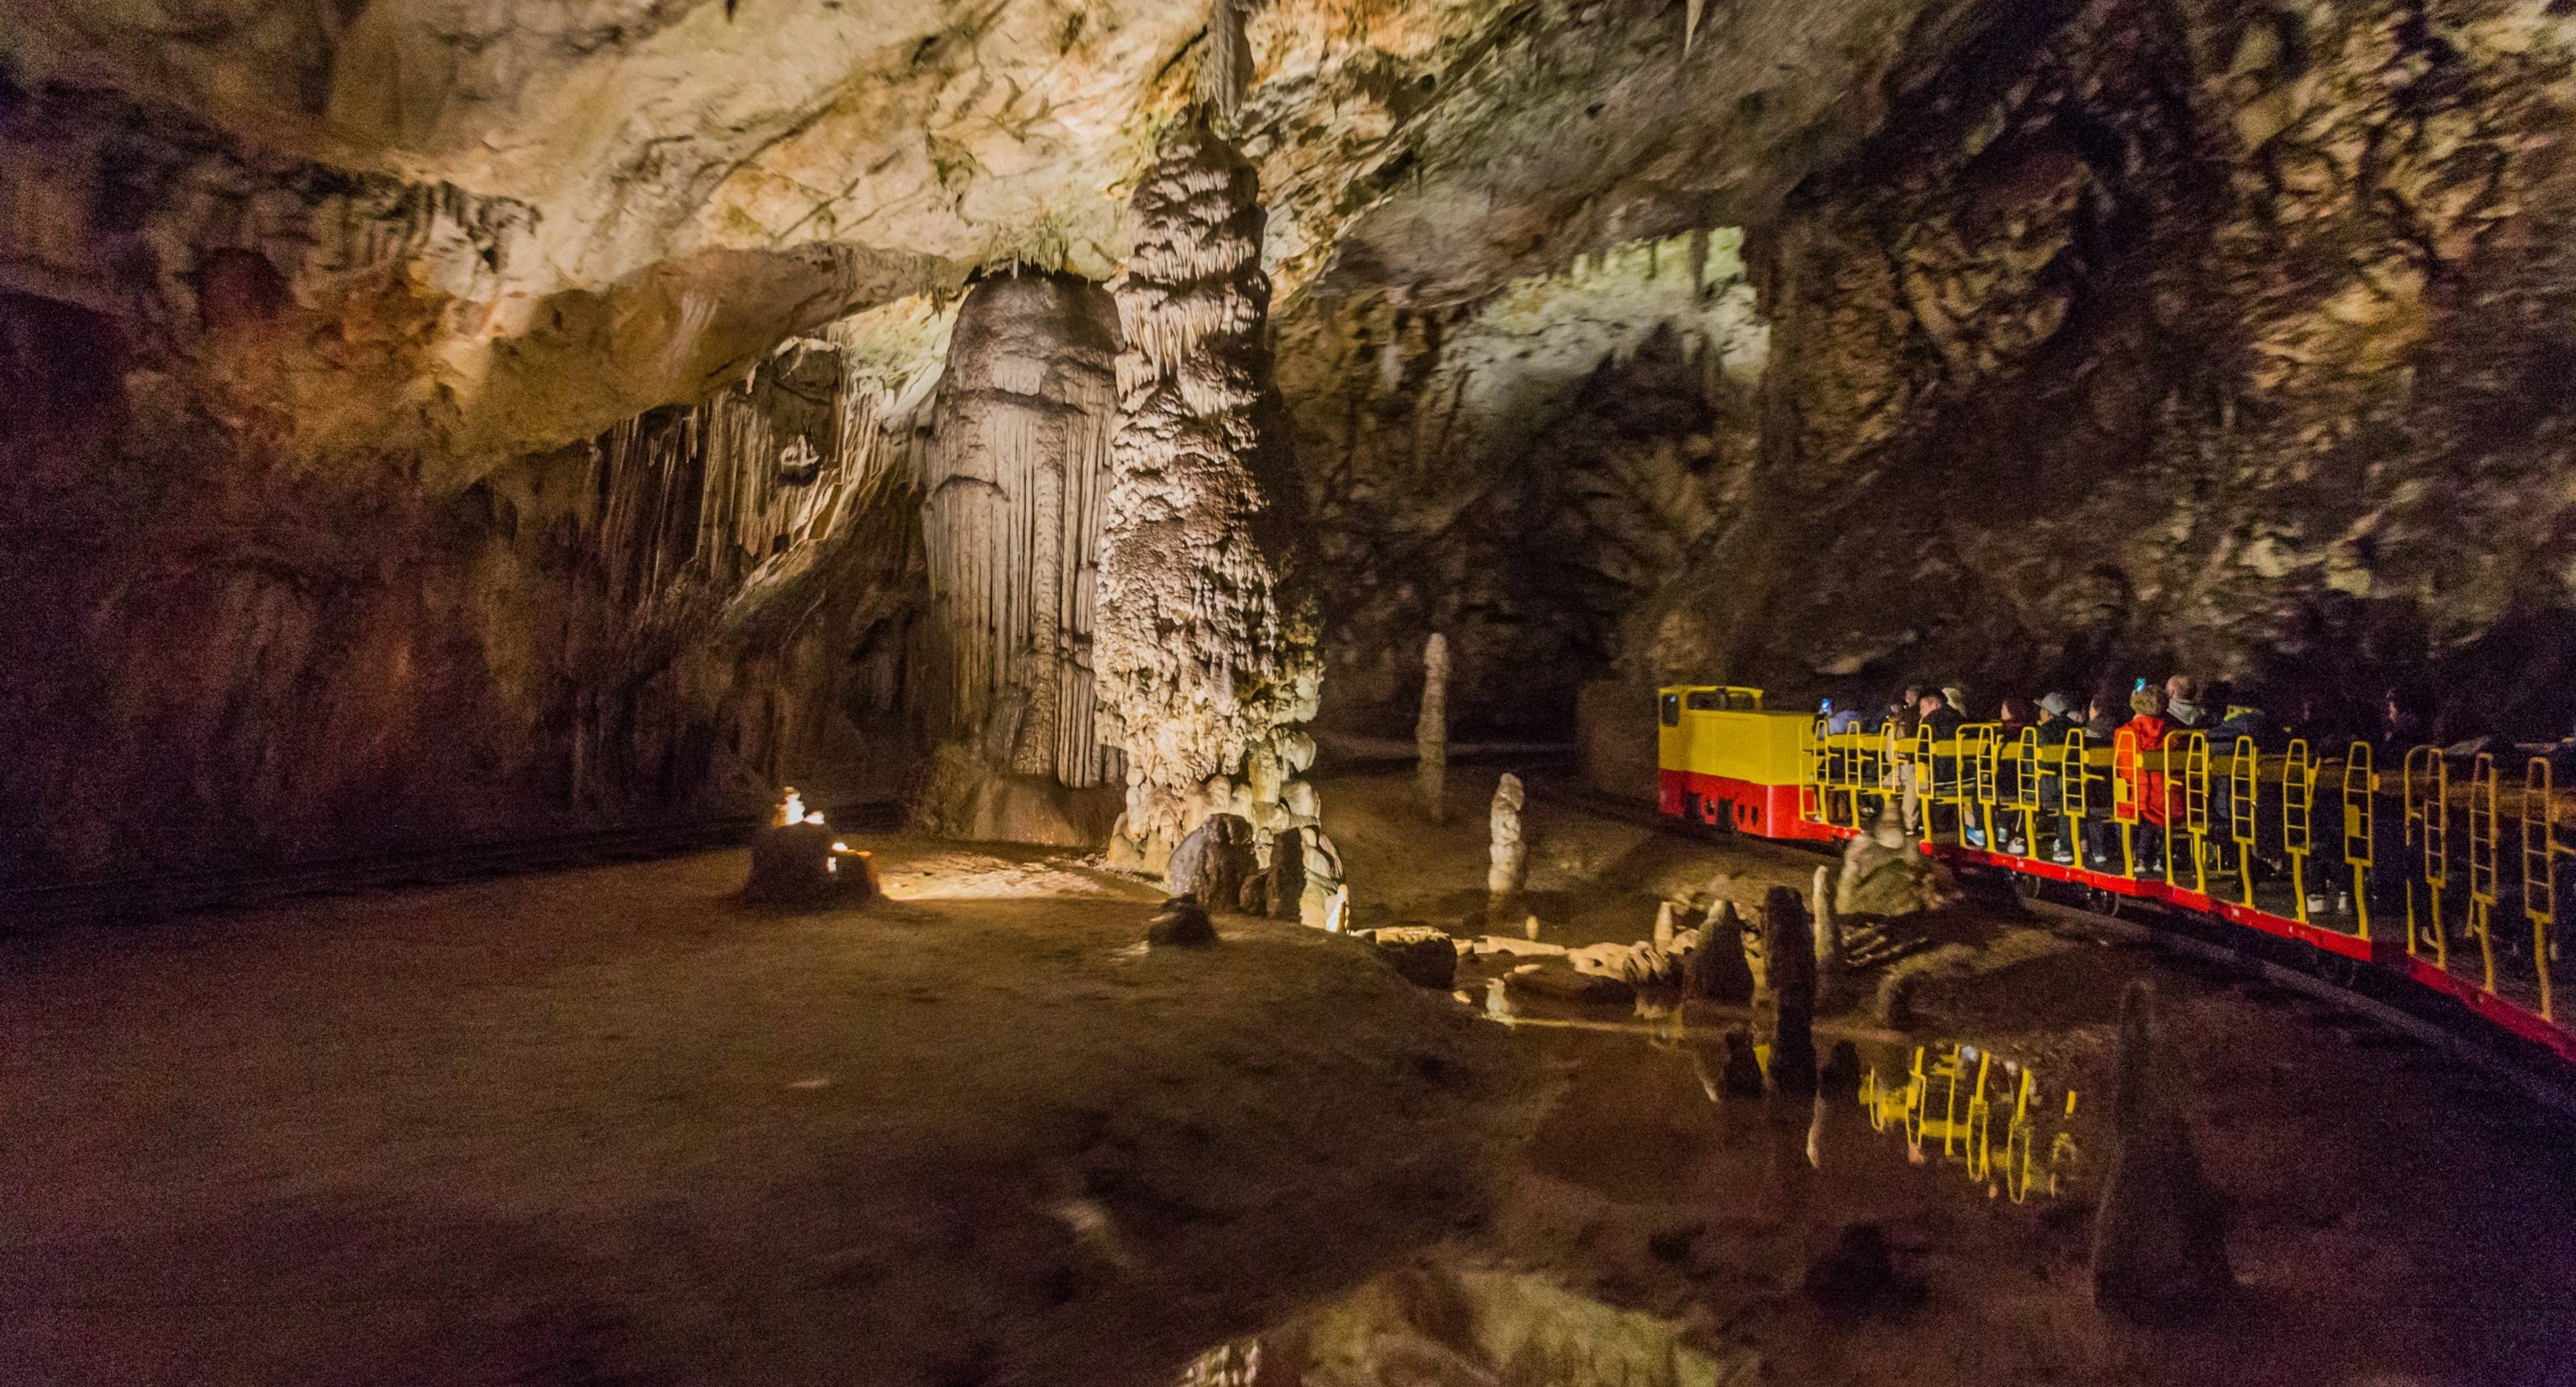
[[[1097,785],[1090,643],[1115,425],[1115,306],[1074,275],[994,275],[958,309],[922,461],[948,718],[981,762]]]

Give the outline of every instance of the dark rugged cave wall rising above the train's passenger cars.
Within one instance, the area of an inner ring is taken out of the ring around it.
[[[1973,54],[1754,237],[1759,463],[1631,697],[2195,669],[2563,731],[2566,23],[2084,0]]]

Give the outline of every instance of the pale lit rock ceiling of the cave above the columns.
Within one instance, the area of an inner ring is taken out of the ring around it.
[[[1291,304],[1440,304],[1620,242],[1759,221],[1973,10],[1716,0],[1685,51],[1692,15],[1662,0],[1260,8],[1239,142],[1273,208],[1265,260]],[[222,147],[227,188],[309,198],[273,170],[327,167],[502,208],[487,221],[505,255],[404,275],[440,309],[384,329],[412,337],[379,363],[410,391],[368,391],[420,399],[435,378],[438,409],[420,412],[443,414],[420,448],[497,455],[703,394],[817,319],[987,265],[1113,275],[1118,203],[1190,103],[1206,5],[0,0],[0,21],[13,106],[111,93],[139,113],[134,142],[188,129]],[[170,260],[224,237],[240,232],[206,219],[160,232],[162,296],[193,273]],[[113,296],[95,234],[15,239],[5,288]],[[289,268],[289,288],[332,311],[312,275]],[[582,360],[608,365],[562,381]],[[312,419],[296,425],[312,448],[410,437],[327,389],[265,381],[281,371],[263,363],[250,389]]]

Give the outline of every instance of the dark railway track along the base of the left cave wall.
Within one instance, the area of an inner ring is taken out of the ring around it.
[[[829,821],[850,831],[878,831],[896,818],[894,805],[842,805]],[[237,911],[309,896],[410,890],[466,880],[652,862],[693,852],[744,847],[768,823],[762,813],[587,829],[448,844],[407,852],[363,852],[250,867],[139,872],[70,883],[0,888],[0,934],[64,924],[142,924],[196,911]]]

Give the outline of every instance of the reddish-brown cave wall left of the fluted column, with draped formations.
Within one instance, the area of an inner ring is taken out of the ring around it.
[[[435,491],[0,296],[0,880],[894,795],[917,425],[829,335]]]

